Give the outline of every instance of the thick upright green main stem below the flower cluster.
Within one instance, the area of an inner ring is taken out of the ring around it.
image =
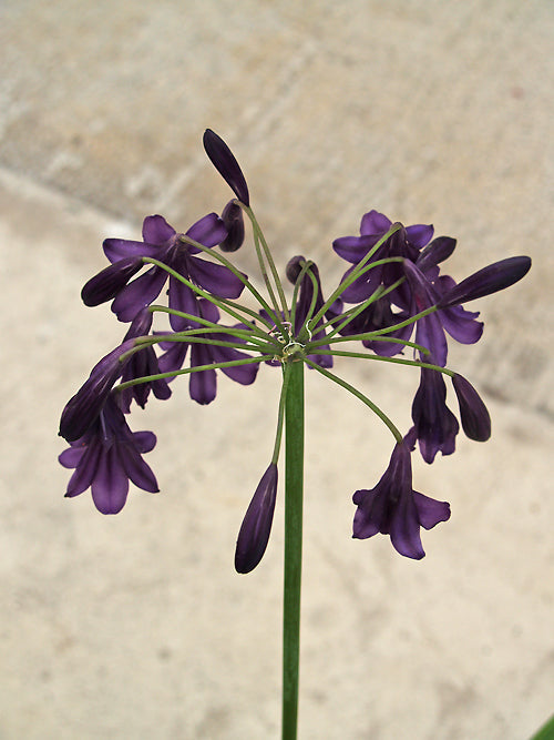
[[[285,584],[283,604],[283,740],[296,740],[300,656],[304,486],[304,363],[289,359],[285,402]]]

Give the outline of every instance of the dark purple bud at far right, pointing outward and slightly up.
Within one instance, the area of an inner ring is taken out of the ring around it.
[[[466,301],[474,301],[484,295],[503,291],[521,280],[531,267],[531,257],[507,257],[494,262],[473,275],[462,280],[455,287],[444,293],[439,301],[439,308],[450,308]]]

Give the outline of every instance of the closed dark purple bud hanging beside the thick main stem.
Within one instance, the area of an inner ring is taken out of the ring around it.
[[[277,465],[271,463],[261,476],[238,533],[235,550],[237,572],[250,572],[266,551],[277,496]]]

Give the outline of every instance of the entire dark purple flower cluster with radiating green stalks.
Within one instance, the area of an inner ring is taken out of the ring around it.
[[[246,511],[235,554],[236,569],[250,571],[261,559],[271,529],[287,368],[302,362],[355,393],[394,437],[381,479],[353,495],[353,537],[387,534],[401,555],[422,558],[420,528],[445,521],[450,507],[413,490],[412,452],[418,445],[427,463],[438,452],[452,454],[460,422],[471,439],[484,442],[491,434],[489,413],[478,392],[447,367],[449,337],[463,344],[478,342],[483,324],[476,312],[462,304],[517,282],[531,260],[509,257],[456,283],[441,271],[455,240],[434,236],[431,225],[392,223],[372,210],[362,216],[359,236],[334,241],[332,249],[350,266],[327,298],[317,265],[304,256],[287,265],[294,286],[287,298],[235,156],[211,130],[204,134],[204,148],[236,197],[220,215],[208,213],[186,232],[178,233],[164,217],[152,215],[144,220],[142,241],[106,239],[103,249],[110,264],[82,290],[89,306],[111,301],[113,313],[129,327],[122,343],[94,366],[63,409],[60,435],[71,446],[60,455],[60,463],[74,469],[65,495],[91,488],[96,508],[116,514],[125,504],[130,480],[143,490],[158,490],[142,458],[156,438],[152,432],[131,432],[126,422],[133,401],[144,408],[151,392],[167,399],[172,379],[189,375],[191,398],[209,404],[216,397],[217,371],[250,385],[260,364],[281,366],[274,453]],[[225,256],[244,242],[245,215],[252,223],[266,296]],[[154,303],[167,283],[166,304]],[[257,300],[258,311],[236,301],[245,290]],[[152,330],[155,314],[168,317],[165,331]],[[222,314],[227,323],[220,323]],[[341,344],[349,348],[341,351]],[[406,357],[407,351],[411,358]],[[406,434],[331,372],[334,355],[419,368],[412,426]],[[447,405],[444,376],[451,379],[460,422]]]

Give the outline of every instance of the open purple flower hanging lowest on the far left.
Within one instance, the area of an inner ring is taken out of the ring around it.
[[[65,496],[79,496],[90,487],[99,511],[117,514],[127,498],[130,480],[157,493],[156,478],[141,457],[155,444],[152,432],[131,432],[123,412],[109,396],[92,426],[59,456],[63,467],[74,468]]]

